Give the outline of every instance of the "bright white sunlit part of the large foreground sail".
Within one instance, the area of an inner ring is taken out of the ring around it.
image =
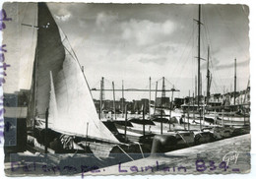
[[[77,60],[67,49],[65,56],[63,69],[55,83],[58,118],[49,119],[49,123],[59,132],[119,143],[98,119],[90,89]]]

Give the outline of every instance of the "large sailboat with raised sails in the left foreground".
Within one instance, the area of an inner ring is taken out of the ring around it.
[[[121,145],[98,119],[79,60],[45,3],[38,3],[37,14],[28,110],[35,141],[48,148],[56,141],[64,149],[85,150],[90,146],[94,153],[100,149],[94,148],[96,143],[107,144],[108,151]]]

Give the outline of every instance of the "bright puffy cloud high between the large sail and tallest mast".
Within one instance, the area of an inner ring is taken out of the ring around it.
[[[164,39],[165,36],[170,35],[175,26],[170,21],[163,23],[154,23],[149,20],[130,20],[121,25],[122,38],[124,40],[135,43],[139,46],[150,45]]]

